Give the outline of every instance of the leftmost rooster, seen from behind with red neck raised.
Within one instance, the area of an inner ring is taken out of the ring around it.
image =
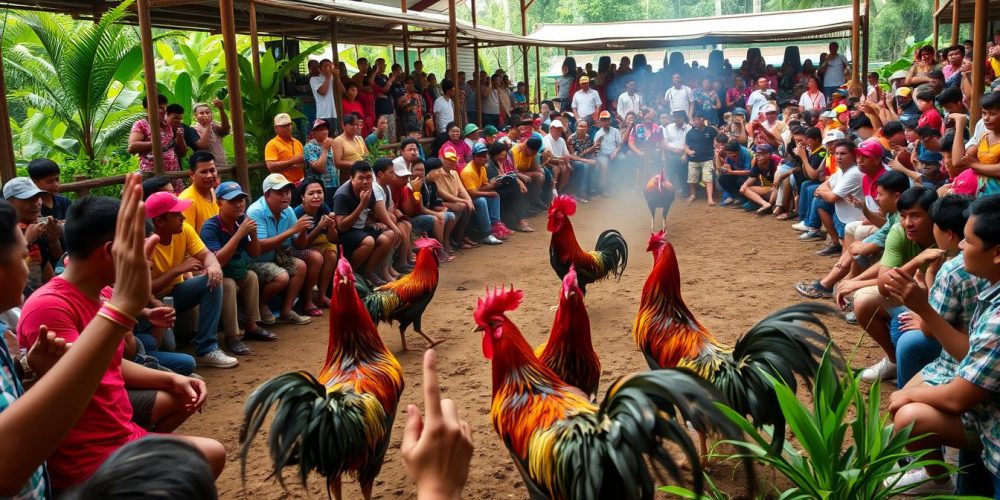
[[[330,338],[319,375],[288,372],[247,399],[240,429],[241,476],[246,477],[250,445],[275,408],[267,445],[273,476],[282,487],[281,470],[298,464],[303,484],[315,471],[339,500],[341,476],[348,473],[370,499],[403,392],[403,371],[365,312],[343,257],[334,271],[332,298]]]

